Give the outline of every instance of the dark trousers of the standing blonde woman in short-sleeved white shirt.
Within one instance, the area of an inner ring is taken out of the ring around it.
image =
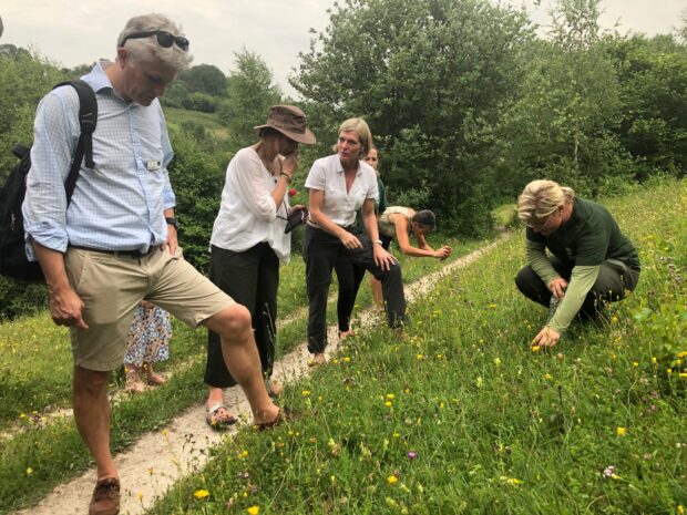
[[[362,244],[362,248],[347,249],[341,240],[329,233],[308,225],[304,254],[306,256],[306,285],[308,287],[308,350],[320,353],[327,347],[327,296],[331,270],[344,255],[381,281],[387,321],[399,328],[406,321],[406,293],[403,277],[398,262],[382,270],[375,262],[370,239],[356,227],[348,228]]]

